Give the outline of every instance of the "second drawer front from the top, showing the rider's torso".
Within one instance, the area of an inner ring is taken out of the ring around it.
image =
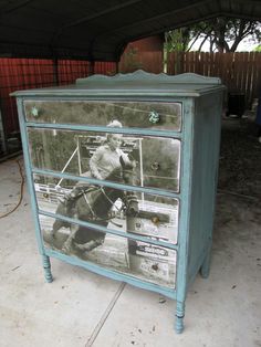
[[[180,140],[166,137],[29,128],[32,164],[36,168],[119,181],[113,170],[135,162],[125,183],[179,191]],[[118,146],[111,149],[116,138]]]

